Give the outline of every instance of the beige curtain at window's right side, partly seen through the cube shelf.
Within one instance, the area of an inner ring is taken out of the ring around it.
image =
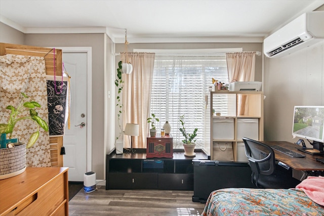
[[[229,82],[254,81],[255,52],[226,53]],[[241,96],[237,101],[238,115],[249,115],[249,100]]]

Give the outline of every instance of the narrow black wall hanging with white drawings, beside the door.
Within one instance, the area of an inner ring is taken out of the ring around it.
[[[62,88],[61,88],[62,85]],[[55,91],[56,87],[56,91]],[[49,109],[50,136],[58,137],[64,135],[65,123],[68,116],[68,82],[67,77],[47,75],[47,97]]]

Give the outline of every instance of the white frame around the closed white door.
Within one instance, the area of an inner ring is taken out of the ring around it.
[[[56,49],[62,50],[62,53],[87,53],[87,152],[86,152],[87,167],[86,168],[87,168],[87,172],[89,172],[92,170],[92,47],[57,47]]]

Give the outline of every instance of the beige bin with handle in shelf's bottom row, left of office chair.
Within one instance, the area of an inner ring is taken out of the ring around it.
[[[231,142],[213,142],[213,160],[234,161]]]

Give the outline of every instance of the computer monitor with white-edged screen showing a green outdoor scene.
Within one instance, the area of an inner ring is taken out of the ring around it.
[[[323,126],[324,106],[295,106],[293,137],[307,139],[314,149],[322,151],[324,142]]]

